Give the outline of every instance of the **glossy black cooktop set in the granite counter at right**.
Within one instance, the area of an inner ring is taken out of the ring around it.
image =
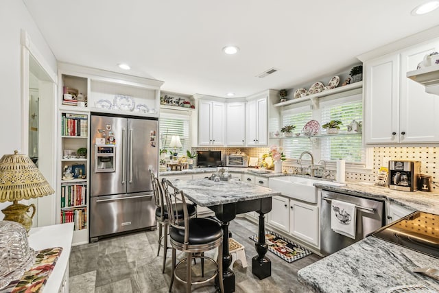
[[[415,211],[372,236],[439,258],[439,215]]]

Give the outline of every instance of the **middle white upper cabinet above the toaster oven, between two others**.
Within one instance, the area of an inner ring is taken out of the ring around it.
[[[226,104],[226,144],[246,145],[246,102]]]

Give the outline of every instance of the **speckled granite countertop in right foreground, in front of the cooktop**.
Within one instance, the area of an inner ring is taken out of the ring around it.
[[[387,292],[415,284],[439,290],[439,280],[415,268],[439,268],[439,259],[367,237],[302,268],[298,280],[315,292]]]

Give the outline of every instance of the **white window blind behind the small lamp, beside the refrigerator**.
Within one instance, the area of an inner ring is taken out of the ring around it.
[[[158,125],[160,148],[173,150],[173,148],[169,148],[169,143],[171,143],[173,135],[178,135],[182,144],[182,148],[177,149],[178,154],[186,154],[186,150],[189,150],[189,117],[162,114]]]

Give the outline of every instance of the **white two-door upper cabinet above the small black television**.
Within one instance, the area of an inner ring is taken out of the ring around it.
[[[200,100],[198,109],[198,144],[224,145],[224,103]]]

